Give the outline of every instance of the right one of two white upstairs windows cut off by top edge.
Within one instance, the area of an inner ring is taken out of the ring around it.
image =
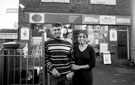
[[[90,0],[90,4],[116,5],[116,0]]]

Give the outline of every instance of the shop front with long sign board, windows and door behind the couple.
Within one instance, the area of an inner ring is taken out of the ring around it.
[[[97,59],[101,62],[120,64],[130,59],[130,16],[26,12],[24,18],[27,25],[22,26],[20,31],[24,28],[29,29],[30,35],[27,40],[31,43],[34,41],[31,45],[42,43],[42,32],[44,32],[45,40],[53,37],[52,24],[61,22],[64,24],[63,38],[73,45],[77,44],[79,31],[86,31],[87,42],[95,48]],[[42,49],[42,47],[35,47],[35,49]],[[110,60],[105,61],[106,54],[110,56]]]

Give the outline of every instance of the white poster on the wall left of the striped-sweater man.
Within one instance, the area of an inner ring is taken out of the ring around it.
[[[30,29],[28,27],[21,28],[21,40],[29,40]]]

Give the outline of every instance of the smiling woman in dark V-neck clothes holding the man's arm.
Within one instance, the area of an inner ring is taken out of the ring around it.
[[[92,68],[95,67],[95,51],[87,44],[87,34],[80,32],[78,36],[79,45],[74,46],[75,71],[73,85],[92,85]]]

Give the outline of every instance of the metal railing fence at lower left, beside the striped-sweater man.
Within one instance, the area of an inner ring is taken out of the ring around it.
[[[34,53],[38,53],[35,57]],[[41,51],[3,49],[0,51],[0,85],[45,85],[44,57]]]

